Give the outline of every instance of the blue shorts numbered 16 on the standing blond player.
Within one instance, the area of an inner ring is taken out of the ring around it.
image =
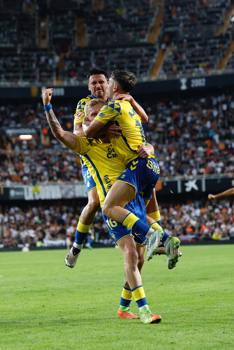
[[[129,202],[127,205],[124,207],[125,209],[128,209],[131,211],[133,214],[135,214],[139,219],[144,221],[144,223],[147,223],[147,218],[146,218],[146,211],[145,211],[145,202],[142,196],[137,196],[133,201]],[[116,221],[113,221],[109,219],[107,216],[103,215],[103,220],[109,230],[110,236],[113,238],[115,241],[115,244],[117,242],[126,237],[131,235],[133,239],[135,240],[135,243],[137,244],[142,244],[145,241],[145,236],[143,236],[139,232],[133,232],[131,231],[128,227],[123,226],[122,224],[119,224]],[[146,244],[144,244],[146,245]]]

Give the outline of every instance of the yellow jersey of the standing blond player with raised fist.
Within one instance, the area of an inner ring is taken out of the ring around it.
[[[110,143],[101,140],[78,137],[76,148],[72,151],[81,154],[90,174],[97,185],[97,193],[101,208],[105,196],[113,183],[125,169],[124,163],[119,159],[115,149]]]

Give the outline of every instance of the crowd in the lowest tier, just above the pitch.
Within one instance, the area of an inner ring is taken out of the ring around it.
[[[163,203],[160,201],[161,222],[171,236],[181,241],[207,238],[226,240],[234,238],[234,201],[187,200]],[[0,244],[43,244],[43,240],[75,239],[78,217],[83,209],[81,201],[53,204],[0,207]],[[91,228],[95,242],[113,244],[103,222],[101,211],[96,214]]]

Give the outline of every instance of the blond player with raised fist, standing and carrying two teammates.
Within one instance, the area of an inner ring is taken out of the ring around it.
[[[110,179],[118,176],[118,174],[116,174],[116,165],[117,167],[120,166],[123,169],[124,164],[118,158],[115,149],[110,143],[108,144],[106,142],[102,142],[101,140],[90,140],[87,138],[78,137],[77,135],[64,131],[53,113],[52,106],[50,103],[52,90],[49,90],[50,89],[42,90],[42,97],[46,110],[47,120],[50,125],[51,131],[53,132],[54,136],[69,149],[73,150],[78,154],[85,155],[87,164],[89,164],[89,168],[92,171],[91,175],[93,175],[96,180],[98,195],[102,207],[106,192],[111,186],[113,186]],[[95,117],[95,115],[103,105],[102,100],[96,100],[96,102],[97,104],[94,105],[93,109],[90,111],[91,118]],[[111,159],[111,162],[109,162],[109,159]],[[115,167],[113,166],[114,164]],[[115,181],[115,179],[113,181]],[[140,199],[141,197],[137,196],[137,198],[135,199],[135,203]],[[133,205],[135,208],[137,207],[137,205]],[[132,208],[130,209],[132,210]],[[137,215],[139,215],[140,213],[144,213],[144,210],[141,209]],[[142,323],[160,322],[161,316],[152,314],[146,302],[145,292],[142,286],[142,279],[138,268],[138,254],[136,243],[133,240],[131,230],[117,222],[110,220],[105,216],[103,217],[106,219],[106,224],[109,226],[110,232],[115,232],[112,233],[112,237],[115,240],[115,242],[118,243],[118,246],[119,248],[121,248],[124,255],[125,276],[129,288],[124,288],[122,293],[121,302],[123,304],[123,307],[128,308],[128,304],[130,305],[131,300],[129,298],[131,294],[138,304]],[[144,218],[141,217],[141,219],[142,222],[144,222]],[[153,221],[153,219],[151,220]],[[159,226],[156,223],[152,223],[152,225],[154,227]],[[142,238],[139,232],[136,232],[135,234],[136,236],[138,236],[139,239],[141,239],[140,241],[143,242],[144,238]],[[140,247],[142,248],[141,245]],[[124,294],[125,290],[128,291],[127,294]]]

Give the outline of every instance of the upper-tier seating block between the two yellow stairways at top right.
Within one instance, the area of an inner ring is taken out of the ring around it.
[[[170,50],[159,78],[198,76],[218,69],[232,41],[231,28],[217,36],[229,6],[230,1],[217,0],[165,2],[164,32]]]

